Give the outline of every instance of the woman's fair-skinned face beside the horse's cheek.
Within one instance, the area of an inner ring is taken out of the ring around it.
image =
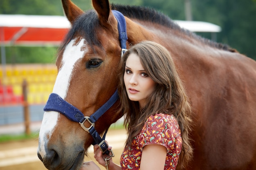
[[[138,101],[140,108],[145,106],[146,98],[155,90],[155,82],[148,76],[135,53],[131,53],[126,60],[124,84],[129,99]]]

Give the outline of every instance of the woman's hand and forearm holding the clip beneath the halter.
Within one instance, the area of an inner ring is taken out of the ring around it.
[[[98,161],[98,163],[102,166],[105,166],[105,160],[102,158],[102,152],[101,149],[99,148],[99,145],[94,145],[93,147],[94,149],[94,158],[96,159],[96,161]],[[109,148],[111,149],[111,147]],[[108,164],[108,170],[121,170],[121,166],[117,165],[116,163],[113,162],[112,158],[109,160],[109,164]]]

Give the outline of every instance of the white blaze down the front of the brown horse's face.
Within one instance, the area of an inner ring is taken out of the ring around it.
[[[52,93],[58,94],[63,99],[65,99],[67,95],[75,63],[83,57],[84,53],[86,53],[84,48],[84,39],[82,39],[76,46],[73,46],[74,42],[75,40],[71,40],[64,50],[62,67],[59,69],[56,82],[52,91]],[[83,51],[81,51],[81,49],[83,49]],[[52,136],[52,132],[54,131],[54,128],[58,122],[59,114],[60,113],[55,111],[44,113],[42,125],[39,132],[38,145],[38,152],[40,152],[40,155],[42,157],[46,154],[44,147],[45,144],[47,144],[48,139],[50,139]]]

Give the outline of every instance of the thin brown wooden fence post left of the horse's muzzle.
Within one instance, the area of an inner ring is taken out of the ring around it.
[[[30,118],[29,118],[29,104],[27,102],[27,81],[26,79],[22,82],[22,95],[23,95],[23,115],[25,122],[25,132],[30,135]]]

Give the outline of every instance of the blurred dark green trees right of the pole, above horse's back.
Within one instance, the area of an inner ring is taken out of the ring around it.
[[[256,0],[193,0],[194,20],[221,26],[218,42],[256,60]]]

